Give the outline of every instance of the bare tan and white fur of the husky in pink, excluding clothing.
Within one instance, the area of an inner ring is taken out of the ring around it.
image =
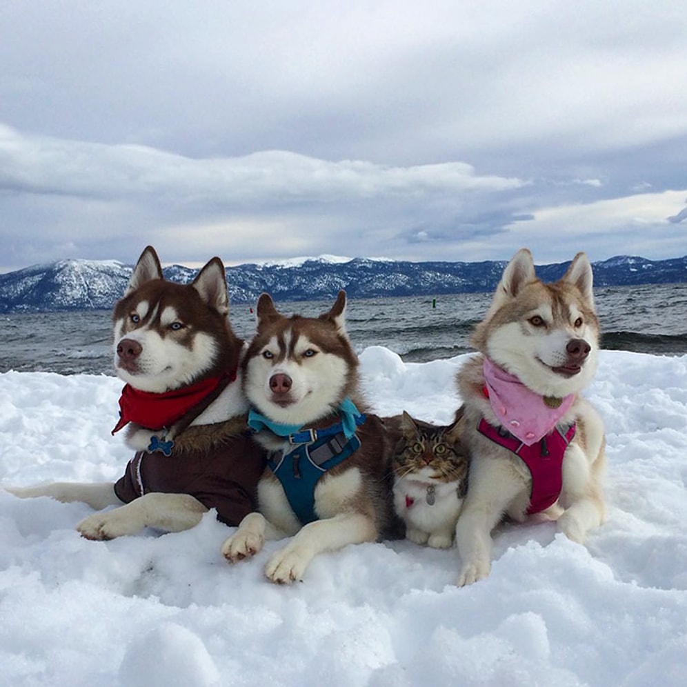
[[[559,499],[546,515],[580,543],[604,519],[604,428],[594,408],[579,395],[593,380],[599,349],[592,283],[584,253],[575,256],[559,281],[544,284],[535,275],[529,250],[519,250],[475,330],[472,343],[480,354],[457,373],[464,403],[458,430],[471,456],[470,488],[456,526],[459,586],[489,574],[491,531],[506,515],[524,519],[532,483],[519,457],[477,431],[482,418],[499,426],[483,391],[484,357],[542,397],[575,395],[559,426],[575,421],[577,432],[564,454]]]

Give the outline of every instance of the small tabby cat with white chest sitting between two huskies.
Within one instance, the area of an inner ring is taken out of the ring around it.
[[[404,410],[401,439],[392,459],[394,508],[416,544],[449,548],[468,490],[468,455],[457,422],[435,426]]]

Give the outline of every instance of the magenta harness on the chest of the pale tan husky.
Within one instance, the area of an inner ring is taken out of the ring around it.
[[[563,459],[576,430],[574,422],[567,427],[556,427],[536,444],[527,446],[505,428],[490,425],[484,418],[477,426],[481,435],[517,455],[530,470],[532,488],[528,515],[546,510],[561,494]]]

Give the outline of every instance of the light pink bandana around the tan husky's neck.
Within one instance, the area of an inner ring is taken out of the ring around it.
[[[515,375],[484,359],[485,394],[501,426],[526,446],[532,446],[555,428],[573,401],[542,396],[528,389]]]

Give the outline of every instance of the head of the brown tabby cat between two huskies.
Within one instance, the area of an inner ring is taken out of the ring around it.
[[[413,419],[404,410],[401,432],[392,463],[397,477],[467,481],[468,455],[457,437],[455,424],[435,426]]]

